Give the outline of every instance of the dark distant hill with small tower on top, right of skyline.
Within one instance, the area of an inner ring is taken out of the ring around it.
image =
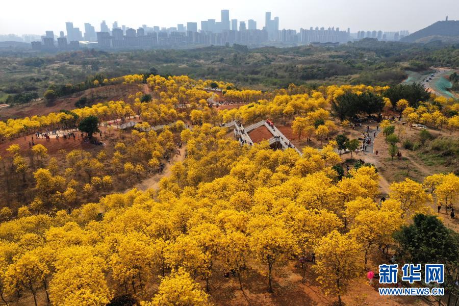
[[[403,37],[403,42],[427,43],[434,40],[456,42],[459,40],[459,20],[437,21],[427,28]]]

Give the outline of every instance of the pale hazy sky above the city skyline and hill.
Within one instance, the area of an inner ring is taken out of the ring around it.
[[[0,5],[0,34],[39,34],[45,30],[65,32],[65,21],[84,32],[84,22],[100,31],[101,20],[109,27],[137,29],[148,26],[176,27],[177,23],[220,20],[220,10],[230,10],[230,19],[257,21],[265,25],[265,12],[279,17],[280,29],[340,27],[359,30],[409,30],[425,28],[444,20],[459,20],[459,0],[172,0],[172,1],[97,1],[97,0],[4,0]]]

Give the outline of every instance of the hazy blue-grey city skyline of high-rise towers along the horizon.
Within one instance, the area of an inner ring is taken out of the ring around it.
[[[271,12],[265,14],[265,26],[257,29],[257,21],[230,20],[230,11],[221,10],[221,21],[215,19],[200,22],[198,31],[197,22],[177,24],[177,27],[142,27],[137,30],[118,26],[115,21],[112,30],[105,20],[100,23],[100,32],[96,32],[90,23],[85,23],[85,33],[79,28],[74,28],[72,22],[66,22],[67,36],[60,32],[57,44],[53,31],[46,31],[41,41],[33,41],[34,49],[78,49],[81,46],[94,48],[149,48],[149,47],[185,47],[187,45],[226,45],[240,43],[245,45],[263,44],[311,44],[311,43],[345,43],[352,40],[349,28],[340,31],[339,28],[318,28],[296,30],[279,30],[279,17],[271,19]],[[361,37],[361,32],[364,37]],[[372,37],[382,39],[381,31],[359,32],[359,38]],[[374,34],[374,35],[373,35]],[[397,32],[398,34],[398,32]],[[384,34],[386,35],[386,34]],[[374,37],[373,37],[374,36]],[[391,39],[395,40],[395,39]],[[397,39],[398,40],[398,36]]]

